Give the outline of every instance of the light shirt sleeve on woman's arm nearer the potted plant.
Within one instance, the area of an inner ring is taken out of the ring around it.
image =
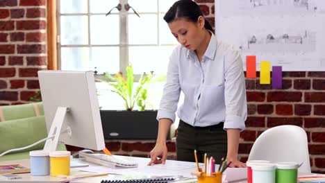
[[[177,104],[181,94],[178,73],[179,47],[174,49],[169,57],[167,68],[167,81],[163,89],[163,96],[160,100],[157,120],[171,119],[174,123],[176,118]]]

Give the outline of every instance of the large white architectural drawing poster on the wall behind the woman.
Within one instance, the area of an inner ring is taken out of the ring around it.
[[[325,0],[215,0],[215,33],[283,71],[325,71]],[[245,68],[246,69],[246,68]]]

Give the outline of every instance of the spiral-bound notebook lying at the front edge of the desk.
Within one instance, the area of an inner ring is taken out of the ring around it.
[[[174,181],[174,177],[165,178],[148,178],[148,179],[132,179],[132,180],[101,180],[101,183],[168,183]]]

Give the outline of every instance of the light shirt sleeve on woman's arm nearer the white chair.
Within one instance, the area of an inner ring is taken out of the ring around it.
[[[235,128],[244,130],[247,119],[247,98],[245,88],[244,71],[242,69],[242,59],[236,51],[233,54],[225,55],[225,82],[224,98],[226,105],[226,119],[224,129]]]

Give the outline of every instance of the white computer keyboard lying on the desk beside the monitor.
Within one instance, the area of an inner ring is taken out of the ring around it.
[[[86,162],[92,162],[94,164],[100,164],[102,166],[108,166],[110,168],[135,168],[138,167],[138,163],[131,162],[126,159],[121,159],[113,155],[104,155],[100,153],[83,153],[79,152],[79,158],[85,159]]]

